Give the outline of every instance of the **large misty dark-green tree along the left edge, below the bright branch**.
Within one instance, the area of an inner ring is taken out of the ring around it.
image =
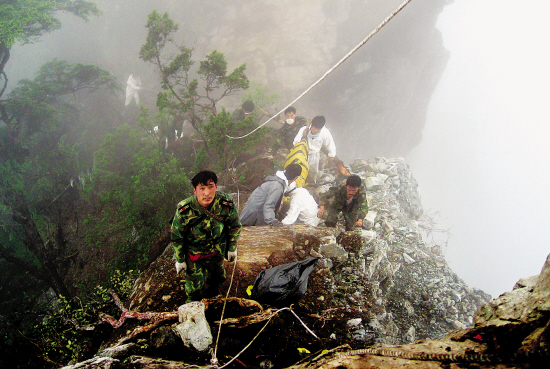
[[[65,139],[78,110],[65,95],[120,85],[93,65],[46,63],[4,100],[0,127],[0,203],[9,223],[0,231],[0,256],[69,297],[61,265],[67,244],[53,209],[70,190],[76,157]]]

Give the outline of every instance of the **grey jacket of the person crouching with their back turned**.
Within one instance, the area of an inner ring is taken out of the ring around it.
[[[265,182],[248,198],[241,212],[241,224],[259,226],[276,222],[275,212],[281,204],[284,190],[284,180],[277,176],[267,176]]]

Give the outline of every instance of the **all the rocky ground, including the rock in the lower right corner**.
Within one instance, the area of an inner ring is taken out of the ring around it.
[[[422,366],[410,363],[422,360],[433,362],[425,367],[476,362],[488,365],[478,367],[528,368],[547,358],[550,266],[487,304],[489,295],[465,285],[437,247],[422,241],[420,196],[402,159],[355,160],[350,169],[368,189],[366,229],[343,232],[341,224],[243,228],[238,260],[227,264],[233,278],[224,288],[230,298],[221,329],[222,296],[203,300],[219,365],[238,356],[235,362],[250,367],[289,367],[308,356],[297,367],[351,368],[367,362],[391,367],[396,360]],[[340,180],[324,171],[317,190]],[[247,288],[260,271],[310,256],[319,262],[307,292],[290,309],[250,300]],[[186,298],[183,278],[166,248],[120,305],[122,324],[102,352],[73,367],[207,365],[211,353],[188,342],[186,347],[175,330]],[[454,367],[469,367],[463,365]]]

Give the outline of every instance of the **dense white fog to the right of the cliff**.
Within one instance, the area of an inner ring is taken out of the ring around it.
[[[493,297],[538,274],[550,249],[549,8],[460,0],[444,9],[437,27],[451,58],[407,156],[425,210],[451,228],[451,268]]]

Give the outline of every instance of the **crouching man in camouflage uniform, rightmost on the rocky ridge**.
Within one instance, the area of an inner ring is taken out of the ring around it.
[[[331,201],[332,199],[332,201]],[[361,178],[352,175],[346,180],[346,184],[338,187],[331,187],[327,192],[321,195],[319,200],[318,216],[321,218],[327,209],[327,227],[335,227],[338,221],[338,214],[342,212],[346,223],[346,231],[351,231],[354,227],[361,227],[363,219],[369,212],[367,203],[367,192],[361,185]]]

